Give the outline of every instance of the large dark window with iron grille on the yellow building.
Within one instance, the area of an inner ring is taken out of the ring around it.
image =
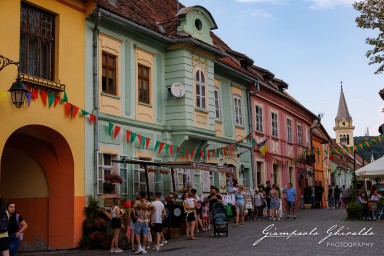
[[[20,72],[53,80],[55,51],[53,15],[21,4]]]

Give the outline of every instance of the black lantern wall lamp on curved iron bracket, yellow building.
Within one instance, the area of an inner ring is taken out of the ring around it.
[[[15,62],[11,59],[0,55],[0,71],[3,70],[8,65],[16,65],[17,66],[17,78],[16,81],[12,84],[11,88],[9,88],[9,92],[11,93],[12,103],[20,108],[24,105],[25,93],[28,92],[27,87],[21,82],[19,77],[19,62]]]

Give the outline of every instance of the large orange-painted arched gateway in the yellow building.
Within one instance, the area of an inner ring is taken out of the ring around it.
[[[24,126],[8,138],[0,170],[0,192],[28,223],[24,243],[73,247],[74,160],[66,139],[46,126]]]

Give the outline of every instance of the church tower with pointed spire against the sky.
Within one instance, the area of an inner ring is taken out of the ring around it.
[[[349,114],[347,102],[344,97],[343,82],[341,82],[339,109],[335,118],[335,127],[333,127],[333,130],[336,132],[336,142],[347,147],[354,146],[354,129],[352,117]]]

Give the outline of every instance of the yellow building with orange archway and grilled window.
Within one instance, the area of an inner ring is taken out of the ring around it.
[[[87,4],[0,1],[0,193],[29,224],[32,248],[77,247],[82,234]],[[8,92],[18,76],[20,108]]]

